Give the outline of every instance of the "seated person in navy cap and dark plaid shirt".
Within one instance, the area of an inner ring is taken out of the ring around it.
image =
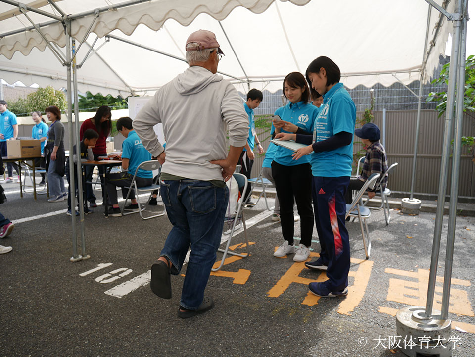
[[[373,173],[383,174],[387,170],[387,157],[384,147],[380,143],[381,132],[376,124],[366,123],[360,129],[355,129],[355,134],[363,142],[366,148],[363,170],[359,176],[351,176],[350,184],[346,190],[346,203],[351,204],[351,190],[360,190],[368,177]],[[387,177],[382,181],[383,189],[386,187]],[[368,197],[375,197],[375,190],[368,190]]]

